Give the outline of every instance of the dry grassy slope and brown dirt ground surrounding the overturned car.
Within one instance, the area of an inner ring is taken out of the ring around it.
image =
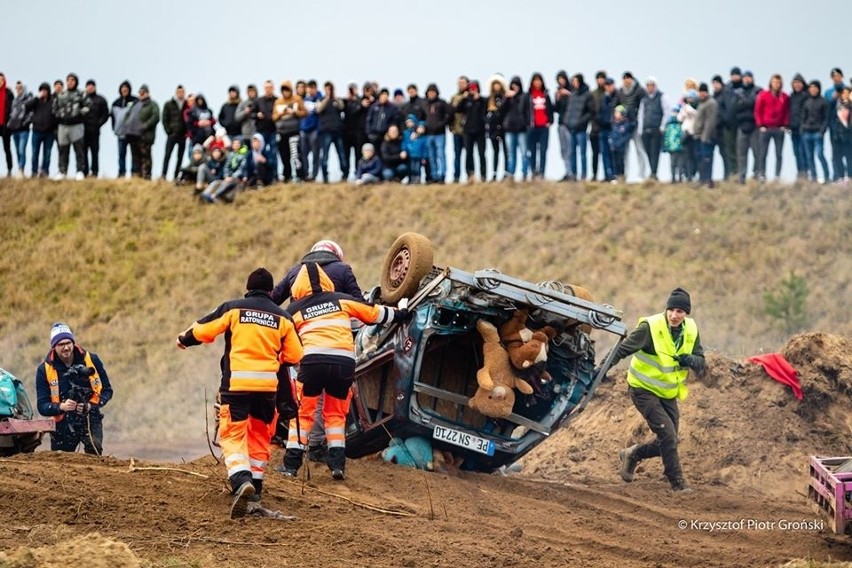
[[[852,454],[852,206],[840,188],[288,186],[203,207],[164,184],[2,181],[0,197],[0,366],[32,391],[51,324],[69,323],[113,376],[105,447],[119,456],[0,459],[0,567],[80,557],[237,568],[852,561],[846,537],[778,527],[818,522],[802,496],[808,455]],[[429,235],[440,264],[587,285],[630,326],[672,287],[690,289],[710,350],[682,407],[684,468],[697,491],[670,492],[658,463],[643,464],[632,484],[618,479],[617,450],[648,435],[622,364],[520,475],[446,477],[376,460],[352,462],[342,484],[318,467],[306,486],[271,473],[267,505],[300,520],[228,520],[224,467],[195,459],[221,345],[178,352],[175,334],[240,294],[255,266],[280,276],[320,238],[343,245],[367,288],[406,230]],[[791,338],[761,310],[763,293],[790,271],[811,289],[808,332]],[[776,350],[799,370],[802,402],[743,363]],[[206,477],[131,472],[121,459],[151,451],[188,463],[135,465]],[[678,528],[740,519],[776,525]]]

